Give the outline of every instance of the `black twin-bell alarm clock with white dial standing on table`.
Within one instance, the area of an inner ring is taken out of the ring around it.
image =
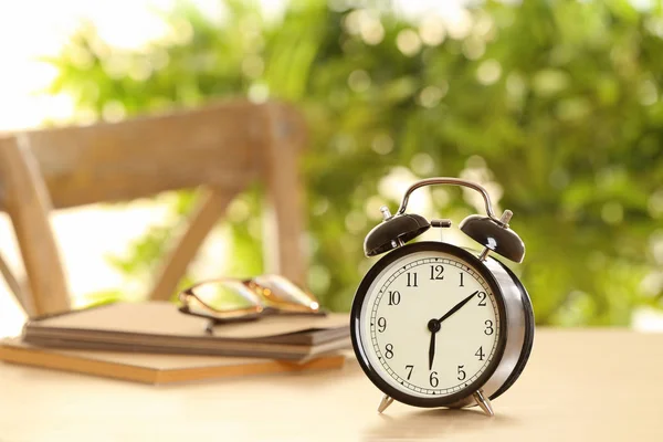
[[[407,213],[410,194],[424,186],[462,186],[480,192],[485,215],[464,219],[460,230],[482,250],[442,241],[410,242],[451,220]],[[497,218],[488,192],[456,178],[413,183],[391,214],[366,236],[367,256],[385,254],[366,274],[352,302],[350,329],[359,365],[385,396],[415,407],[478,406],[518,379],[534,343],[534,312],[527,291],[498,259],[520,263],[525,244],[509,228],[513,213]],[[409,243],[410,242],[410,243]]]

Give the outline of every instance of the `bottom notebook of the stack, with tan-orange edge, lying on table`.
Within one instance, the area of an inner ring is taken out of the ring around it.
[[[0,340],[0,360],[145,383],[172,383],[236,376],[339,369],[344,365],[345,356],[339,354],[322,356],[298,364],[259,358],[60,350],[35,347],[23,343],[20,338],[10,338]]]

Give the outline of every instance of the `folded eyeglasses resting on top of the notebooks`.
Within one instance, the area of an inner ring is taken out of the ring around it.
[[[181,313],[208,318],[210,325],[266,315],[326,315],[313,294],[278,275],[206,281],[178,297]]]

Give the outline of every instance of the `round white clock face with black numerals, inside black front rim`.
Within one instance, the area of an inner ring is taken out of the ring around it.
[[[462,249],[419,243],[369,272],[355,299],[352,332],[378,387],[387,385],[392,397],[400,392],[400,400],[444,402],[475,391],[492,375],[501,357],[503,304],[480,266]]]

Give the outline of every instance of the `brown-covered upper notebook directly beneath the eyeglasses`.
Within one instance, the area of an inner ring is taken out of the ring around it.
[[[306,360],[349,347],[347,315],[267,316],[222,324],[168,302],[117,303],[30,320],[28,344],[51,348]]]

